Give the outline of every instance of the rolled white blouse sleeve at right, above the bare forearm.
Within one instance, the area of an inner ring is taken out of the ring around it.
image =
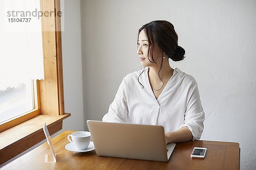
[[[201,105],[198,85],[195,81],[189,87],[184,124],[180,125],[179,129],[182,127],[189,128],[193,136],[192,140],[200,139],[204,130],[204,110]]]

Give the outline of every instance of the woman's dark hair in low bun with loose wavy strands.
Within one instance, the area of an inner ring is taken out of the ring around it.
[[[139,29],[137,40],[139,39],[139,34],[142,30],[145,31],[145,35],[148,39],[148,54],[150,51],[152,52],[151,54],[152,54],[153,61],[151,61],[148,57],[148,60],[150,62],[156,63],[154,60],[154,57],[153,57],[154,45],[157,45],[163,51],[163,53],[165,53],[173,61],[181,61],[184,59],[185,50],[182,47],[178,46],[178,36],[175,32],[175,29],[174,29],[174,26],[172,25],[172,23],[165,21],[165,20],[155,20],[155,21],[146,23]],[[161,70],[162,66],[163,66],[163,57],[162,57],[160,69],[158,72],[158,76],[160,79],[161,79],[160,70]],[[143,73],[143,71],[142,71],[142,73]],[[140,83],[139,77],[138,77],[138,82]],[[161,79],[161,81],[163,82],[162,79]],[[142,84],[140,83],[140,85],[142,85]],[[163,85],[162,85],[162,87],[163,87]],[[143,88],[144,88],[144,86],[143,86]],[[157,90],[157,91],[159,91],[159,90]]]

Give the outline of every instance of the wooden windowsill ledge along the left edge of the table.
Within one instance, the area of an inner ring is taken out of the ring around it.
[[[47,125],[50,135],[62,128],[62,120],[70,116],[40,114],[19,125],[0,132],[0,164],[12,159],[23,151],[45,139],[43,125]]]

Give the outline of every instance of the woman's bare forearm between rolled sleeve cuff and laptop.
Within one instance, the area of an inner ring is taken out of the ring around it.
[[[186,142],[193,139],[192,133],[188,127],[182,127],[173,132],[165,133],[166,144],[176,142]]]

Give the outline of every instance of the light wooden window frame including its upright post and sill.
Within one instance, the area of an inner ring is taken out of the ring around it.
[[[43,12],[55,11],[56,14],[56,12],[61,11],[60,0],[40,0],[40,5]],[[35,105],[37,104],[38,108],[0,124],[1,140],[12,141],[7,146],[0,142],[0,164],[45,139],[43,130],[38,127],[42,121],[48,123],[47,127],[52,135],[61,130],[62,120],[70,116],[70,113],[64,112],[61,17],[58,15],[42,16],[41,23],[44,80],[36,81],[37,88],[35,92],[37,97],[35,98]],[[27,126],[31,130],[26,131]],[[24,130],[26,133],[23,133]]]

